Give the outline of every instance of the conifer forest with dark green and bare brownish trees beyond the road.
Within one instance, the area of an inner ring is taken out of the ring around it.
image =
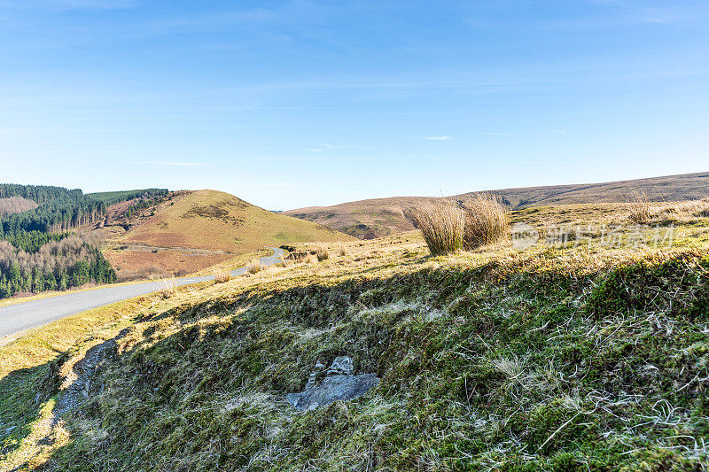
[[[101,221],[108,205],[167,194],[168,190],[148,189],[84,195],[79,189],[0,184],[0,198],[24,198],[38,205],[0,217],[0,298],[115,282],[113,267],[96,242],[68,232]],[[12,208],[17,207],[12,202]]]

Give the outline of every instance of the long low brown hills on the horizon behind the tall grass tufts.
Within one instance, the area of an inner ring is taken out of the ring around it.
[[[555,185],[521,189],[492,190],[512,209],[543,205],[626,202],[631,190],[642,190],[653,201],[676,202],[709,196],[709,173],[670,175],[621,182]],[[463,204],[479,192],[453,197]],[[435,197],[390,197],[349,202],[332,206],[314,206],[284,212],[303,220],[314,221],[362,239],[387,236],[412,230],[405,210]]]

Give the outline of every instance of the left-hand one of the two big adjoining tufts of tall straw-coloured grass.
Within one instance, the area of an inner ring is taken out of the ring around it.
[[[410,215],[432,255],[463,248],[465,215],[454,202],[418,205]]]

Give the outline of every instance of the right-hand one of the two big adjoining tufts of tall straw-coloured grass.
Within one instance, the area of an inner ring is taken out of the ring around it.
[[[508,213],[502,198],[493,194],[473,197],[465,206],[463,247],[472,250],[493,244],[507,235]]]

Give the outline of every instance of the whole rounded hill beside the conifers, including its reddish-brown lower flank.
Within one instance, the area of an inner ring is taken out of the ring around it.
[[[123,202],[109,208],[98,231],[108,240],[106,257],[123,280],[188,274],[264,245],[352,239],[216,190]]]

